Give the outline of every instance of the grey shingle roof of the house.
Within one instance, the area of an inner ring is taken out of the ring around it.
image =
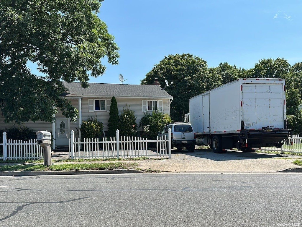
[[[68,91],[61,96],[65,97],[146,97],[172,98],[159,85],[154,84],[100,84],[88,83],[88,88],[81,88],[81,83],[63,82]]]

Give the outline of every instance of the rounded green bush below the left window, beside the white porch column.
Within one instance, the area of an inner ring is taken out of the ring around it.
[[[84,138],[101,138],[103,136],[103,123],[99,122],[96,117],[88,117],[83,121],[81,127],[82,141]]]

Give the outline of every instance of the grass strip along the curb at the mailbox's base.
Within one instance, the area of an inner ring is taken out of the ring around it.
[[[95,170],[95,169],[133,169],[138,166],[137,163],[76,163],[76,164],[57,164],[51,166],[44,165],[14,165],[14,166],[1,166],[0,171],[41,171],[41,170]]]

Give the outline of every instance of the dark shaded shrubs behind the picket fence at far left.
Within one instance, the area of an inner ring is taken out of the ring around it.
[[[3,132],[6,132],[6,138],[8,140],[31,140],[36,139],[36,132],[28,127],[21,126],[19,128],[12,127],[5,130],[0,130],[0,141],[3,140]]]

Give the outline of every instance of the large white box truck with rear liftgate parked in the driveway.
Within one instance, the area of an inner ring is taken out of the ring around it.
[[[280,148],[292,135],[287,128],[285,79],[240,78],[190,98],[189,107],[186,117],[196,144],[210,145],[215,153]]]

